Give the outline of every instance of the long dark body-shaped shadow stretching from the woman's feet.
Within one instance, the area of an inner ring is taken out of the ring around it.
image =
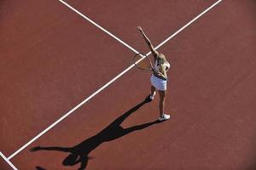
[[[125,136],[128,133],[141,130],[143,128],[149,127],[153,124],[159,123],[158,121],[148,122],[141,125],[123,128],[120,126],[122,122],[128,116],[135,111],[137,111],[140,107],[144,104],[150,102],[150,99],[146,98],[140,104],[134,106],[129,111],[126,111],[123,115],[119,116],[113,122],[111,122],[108,127],[102,129],[101,132],[97,133],[96,135],[90,137],[89,139],[85,139],[82,143],[77,144],[73,147],[58,147],[58,146],[51,146],[51,147],[41,147],[37,146],[31,149],[31,151],[38,151],[38,150],[57,150],[68,152],[69,155],[62,161],[64,166],[73,166],[78,163],[81,163],[79,170],[85,169],[87,166],[88,160],[91,159],[89,154],[92,150],[95,150],[100,144],[104,142],[108,142],[114,139],[119,139],[120,137]]]

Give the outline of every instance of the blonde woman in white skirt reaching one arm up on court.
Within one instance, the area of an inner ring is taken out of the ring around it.
[[[156,94],[155,90],[157,89],[160,94],[160,117],[159,121],[166,121],[170,118],[170,115],[166,115],[164,113],[165,110],[165,100],[166,100],[166,88],[167,88],[167,74],[166,72],[170,68],[170,64],[166,60],[164,54],[160,54],[154,49],[154,46],[144,33],[142,27],[138,26],[138,30],[142,33],[145,42],[147,42],[148,47],[150,48],[151,53],[154,56],[154,70],[152,76],[150,78],[151,82],[151,92],[149,95],[149,99],[154,99],[154,95]]]

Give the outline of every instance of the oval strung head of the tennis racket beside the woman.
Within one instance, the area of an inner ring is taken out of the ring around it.
[[[154,71],[154,67],[152,65],[151,60],[145,54],[135,54],[132,63],[138,68],[143,71]]]

